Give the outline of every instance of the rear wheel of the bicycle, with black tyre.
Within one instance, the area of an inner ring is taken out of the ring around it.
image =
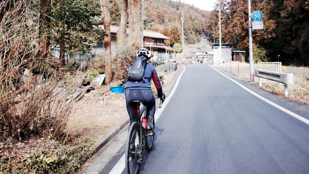
[[[129,128],[129,134],[125,148],[125,169],[128,174],[139,173],[142,156],[142,152],[140,150],[141,146],[140,128],[138,123],[134,122]]]

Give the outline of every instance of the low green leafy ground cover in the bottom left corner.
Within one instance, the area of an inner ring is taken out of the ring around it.
[[[65,143],[56,141],[52,152],[42,150],[21,160],[1,158],[0,173],[74,173],[95,152],[95,147],[96,141],[84,136],[71,137]]]

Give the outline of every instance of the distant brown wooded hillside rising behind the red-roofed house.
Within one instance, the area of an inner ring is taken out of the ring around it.
[[[199,37],[208,36],[205,26],[210,11],[200,10],[193,5],[171,0],[144,1],[144,29],[160,31],[172,39],[174,43],[181,43],[181,17],[184,11],[184,40],[185,43],[195,43]],[[120,11],[116,0],[110,1],[111,24],[119,25]],[[178,30],[178,32],[177,32]]]

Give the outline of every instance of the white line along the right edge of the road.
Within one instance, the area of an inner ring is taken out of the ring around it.
[[[210,66],[210,64],[208,64],[208,66]],[[214,70],[218,71],[216,68],[214,68],[214,67],[212,67],[212,66],[210,66],[210,67],[213,68]],[[297,115],[297,114],[295,114],[294,112],[292,112],[292,111],[290,111],[290,110],[287,110],[286,108],[281,107],[281,106],[277,105],[276,103],[267,100],[266,98],[260,96],[259,94],[256,94],[256,93],[253,92],[252,90],[250,90],[250,89],[246,88],[245,86],[241,85],[241,84],[238,83],[237,81],[235,81],[235,80],[231,79],[230,77],[224,75],[222,72],[220,72],[220,71],[218,71],[218,72],[219,72],[222,76],[225,76],[225,77],[228,78],[229,80],[233,81],[234,83],[236,83],[237,85],[239,85],[240,87],[242,87],[243,89],[245,89],[246,91],[248,91],[249,93],[255,95],[257,98],[260,98],[261,100],[263,100],[263,101],[269,103],[270,105],[272,105],[272,106],[274,106],[274,107],[280,109],[281,111],[286,112],[286,113],[289,114],[289,115],[292,115],[293,117],[297,118],[298,120],[303,121],[303,122],[306,123],[306,124],[309,124],[309,120],[305,119],[304,117],[302,117],[302,116],[300,116],[300,115]]]

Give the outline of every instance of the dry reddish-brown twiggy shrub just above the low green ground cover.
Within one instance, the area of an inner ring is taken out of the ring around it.
[[[29,77],[20,96],[2,98],[0,102],[1,134],[22,139],[32,134],[61,137],[71,114],[72,103],[66,102],[74,81],[59,80],[53,72],[46,82]]]

